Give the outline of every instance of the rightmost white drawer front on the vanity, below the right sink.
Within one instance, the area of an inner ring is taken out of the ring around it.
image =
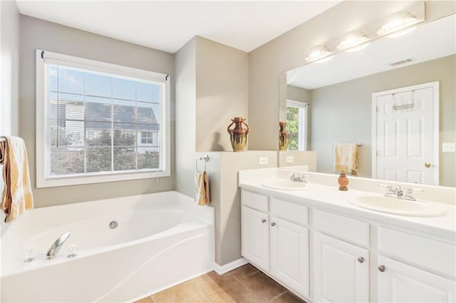
[[[378,250],[419,267],[455,277],[455,245],[380,227]]]

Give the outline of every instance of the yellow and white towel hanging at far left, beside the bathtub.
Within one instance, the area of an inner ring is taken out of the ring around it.
[[[1,138],[1,137],[0,137]],[[33,208],[33,195],[28,173],[26,144],[19,137],[3,137],[0,142],[0,164],[3,164],[4,190],[0,207],[10,222]]]

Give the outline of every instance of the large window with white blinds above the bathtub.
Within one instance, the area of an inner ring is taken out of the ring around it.
[[[169,175],[167,75],[41,54],[44,184]]]

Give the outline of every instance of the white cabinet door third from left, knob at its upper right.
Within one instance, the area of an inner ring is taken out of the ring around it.
[[[368,250],[314,233],[314,301],[368,302]]]

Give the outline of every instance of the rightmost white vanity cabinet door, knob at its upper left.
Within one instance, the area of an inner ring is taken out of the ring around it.
[[[455,281],[379,256],[378,302],[455,302]]]

